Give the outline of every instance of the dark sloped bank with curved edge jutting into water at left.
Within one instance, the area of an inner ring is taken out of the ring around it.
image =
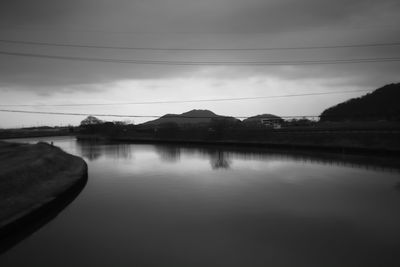
[[[0,252],[13,233],[54,217],[86,181],[86,162],[60,148],[0,142]]]

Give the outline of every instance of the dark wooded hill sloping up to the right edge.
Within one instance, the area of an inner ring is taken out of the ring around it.
[[[400,120],[400,83],[385,85],[322,112],[321,121]]]

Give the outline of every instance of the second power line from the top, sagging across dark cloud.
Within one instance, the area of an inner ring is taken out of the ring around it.
[[[377,62],[400,61],[400,57],[298,60],[298,61],[170,61],[170,60],[136,60],[136,59],[71,57],[71,56],[31,54],[31,53],[7,52],[7,51],[0,51],[0,55],[45,58],[45,59],[60,59],[60,60],[71,60],[71,61],[140,64],[140,65],[174,65],[174,66],[295,66],[295,65],[354,64],[354,63],[377,63]]]

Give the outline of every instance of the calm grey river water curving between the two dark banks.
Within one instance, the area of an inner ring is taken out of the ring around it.
[[[400,266],[396,171],[245,149],[40,140],[84,157],[89,181],[0,266]]]

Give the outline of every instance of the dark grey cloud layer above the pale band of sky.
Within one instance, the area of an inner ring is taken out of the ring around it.
[[[396,0],[4,0],[1,39],[142,47],[270,47],[396,41]],[[366,28],[366,30],[360,30]],[[353,30],[352,30],[353,29]],[[0,51],[148,60],[304,60],[400,56],[399,47],[268,53],[127,52],[0,43]],[[343,77],[360,84],[398,77],[399,64],[219,68],[226,77]],[[0,55],[0,86],[51,92],[80,84],[195,75],[206,67],[69,62]],[[212,68],[210,68],[212,69]],[[218,68],[217,68],[218,69]],[[379,75],[378,75],[379,74]],[[218,77],[219,71],[214,72]],[[379,77],[377,77],[379,76]],[[390,80],[390,81],[389,81]],[[32,89],[34,88],[34,89]]]

